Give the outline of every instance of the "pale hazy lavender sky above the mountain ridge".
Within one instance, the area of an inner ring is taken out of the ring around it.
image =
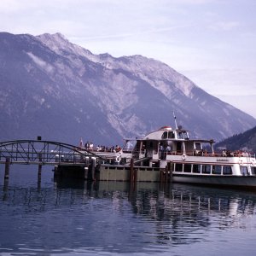
[[[163,61],[256,118],[256,0],[1,0],[0,31]]]

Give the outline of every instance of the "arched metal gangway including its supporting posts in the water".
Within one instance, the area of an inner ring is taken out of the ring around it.
[[[5,164],[4,179],[9,179],[9,166],[13,164],[38,165],[38,181],[41,180],[42,166],[70,169],[70,172],[84,173],[96,169],[96,162],[108,161],[104,155],[96,155],[89,149],[72,144],[42,140],[15,140],[0,143],[0,164]],[[68,170],[69,170],[68,169]]]

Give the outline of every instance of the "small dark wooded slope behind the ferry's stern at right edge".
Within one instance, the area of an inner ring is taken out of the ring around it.
[[[256,126],[253,129],[235,134],[216,143],[215,147],[229,150],[247,150],[250,153],[256,154]]]

